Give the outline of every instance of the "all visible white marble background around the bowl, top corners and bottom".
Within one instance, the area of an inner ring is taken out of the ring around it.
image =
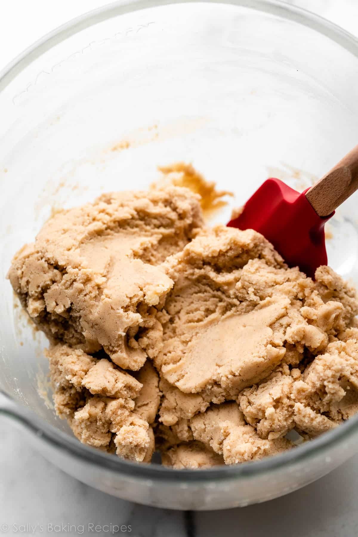
[[[105,3],[101,0],[2,0],[0,68],[44,33]],[[358,34],[356,0],[294,0],[291,3],[315,11]],[[135,505],[79,483],[27,447],[23,433],[4,418],[0,420],[0,438],[0,535],[55,533],[46,530],[48,524],[72,524],[79,528],[79,533],[81,525],[89,522],[99,526],[130,525],[130,534],[135,537],[358,535],[358,455],[330,475],[289,496],[244,509],[188,515]],[[10,527],[5,532],[6,524]],[[36,529],[19,527],[26,524]],[[72,529],[70,534],[76,532]],[[89,533],[84,531],[83,534]],[[97,533],[108,534],[107,531]]]

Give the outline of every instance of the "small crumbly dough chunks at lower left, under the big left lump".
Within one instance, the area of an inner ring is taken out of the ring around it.
[[[148,360],[137,378],[107,358],[57,344],[47,351],[57,415],[75,436],[126,459],[150,461],[154,434],[149,426],[159,407],[158,374]]]

